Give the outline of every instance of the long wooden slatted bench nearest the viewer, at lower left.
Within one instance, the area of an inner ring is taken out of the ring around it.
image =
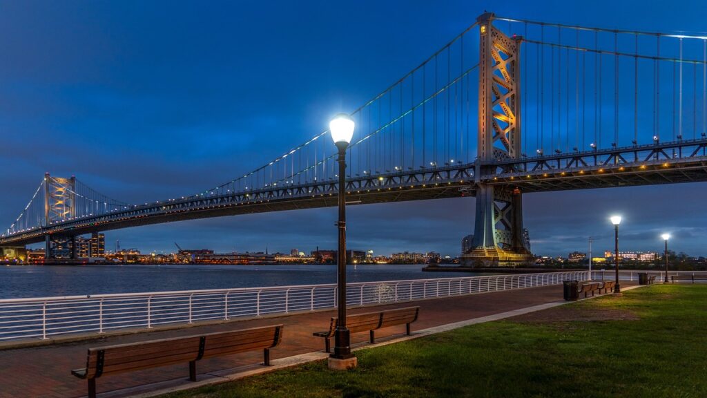
[[[88,397],[95,398],[98,377],[133,370],[189,363],[189,380],[197,380],[197,360],[235,353],[264,351],[264,365],[270,365],[270,348],[282,339],[283,325],[224,331],[201,336],[141,341],[88,348],[86,368],[71,370],[71,374],[88,380]]]

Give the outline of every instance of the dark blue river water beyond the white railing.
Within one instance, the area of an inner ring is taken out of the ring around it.
[[[423,272],[422,267],[421,264],[349,266],[346,276],[349,283],[356,283],[481,275]],[[335,265],[0,266],[0,299],[336,282]]]

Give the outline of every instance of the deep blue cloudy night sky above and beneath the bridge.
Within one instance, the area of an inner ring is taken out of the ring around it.
[[[206,4],[206,5],[204,5]],[[322,131],[484,10],[538,21],[700,33],[695,1],[0,1],[0,224],[45,171],[144,203],[197,193]],[[613,244],[707,256],[707,184],[525,195],[535,254]],[[456,256],[474,199],[349,207],[350,249]],[[107,232],[107,249],[333,249],[334,208]]]

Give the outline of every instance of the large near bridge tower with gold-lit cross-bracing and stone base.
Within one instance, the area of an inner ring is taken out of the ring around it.
[[[496,188],[480,177],[496,173],[494,161],[519,159],[520,44],[493,26],[493,13],[479,22],[479,131],[474,185],[474,238],[462,253],[467,266],[514,266],[532,259],[522,222],[522,193]]]

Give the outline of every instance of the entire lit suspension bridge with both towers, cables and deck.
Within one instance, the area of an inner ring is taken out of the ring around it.
[[[484,13],[351,117],[351,204],[475,196],[464,262],[529,261],[524,193],[707,181],[707,37]],[[337,205],[327,135],[153,203],[46,174],[0,246],[75,257],[59,249],[91,232]]]

